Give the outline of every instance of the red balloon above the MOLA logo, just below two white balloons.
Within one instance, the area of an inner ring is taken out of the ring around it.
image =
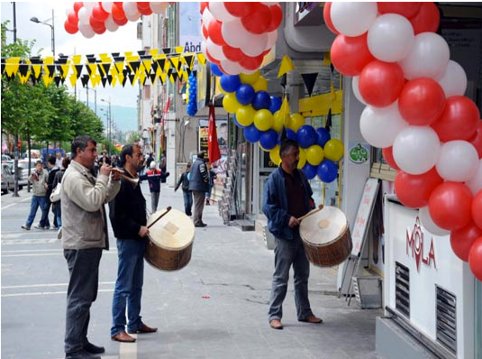
[[[400,170],[395,178],[395,193],[406,207],[420,208],[429,203],[433,189],[443,182],[435,167],[420,175]]]

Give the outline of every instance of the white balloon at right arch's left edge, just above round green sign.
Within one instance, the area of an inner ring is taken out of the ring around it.
[[[359,131],[374,147],[390,147],[408,124],[398,111],[398,101],[386,107],[366,106],[359,119]]]

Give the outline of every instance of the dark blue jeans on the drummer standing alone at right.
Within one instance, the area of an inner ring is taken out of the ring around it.
[[[306,258],[305,247],[299,235],[292,240],[275,238],[275,241],[275,273],[269,299],[268,320],[283,317],[283,300],[286,297],[291,265],[295,281],[296,317],[303,320],[313,314],[308,300],[310,262]]]

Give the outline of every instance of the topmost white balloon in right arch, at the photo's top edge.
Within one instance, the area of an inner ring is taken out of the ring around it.
[[[359,36],[377,18],[377,3],[332,2],[330,14],[336,30],[346,36]]]

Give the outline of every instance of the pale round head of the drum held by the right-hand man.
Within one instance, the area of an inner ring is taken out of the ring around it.
[[[326,245],[340,238],[347,229],[347,217],[341,209],[323,207],[301,221],[300,236],[308,244]]]

